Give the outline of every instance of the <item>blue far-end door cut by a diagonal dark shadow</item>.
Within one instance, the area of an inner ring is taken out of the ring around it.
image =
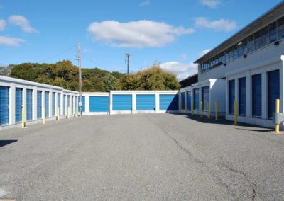
[[[160,94],[160,110],[178,110],[178,94]]]

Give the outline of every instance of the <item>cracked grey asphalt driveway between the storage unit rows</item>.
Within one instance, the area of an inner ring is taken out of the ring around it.
[[[0,131],[0,200],[284,200],[284,134],[173,114]]]

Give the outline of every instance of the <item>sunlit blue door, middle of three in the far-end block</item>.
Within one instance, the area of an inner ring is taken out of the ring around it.
[[[155,110],[155,95],[136,95],[136,110]]]

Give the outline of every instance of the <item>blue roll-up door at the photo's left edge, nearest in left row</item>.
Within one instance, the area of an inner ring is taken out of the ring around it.
[[[9,124],[9,87],[0,86],[0,125]]]

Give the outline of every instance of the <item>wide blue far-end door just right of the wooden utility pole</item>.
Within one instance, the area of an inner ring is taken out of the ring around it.
[[[109,96],[89,96],[90,112],[109,112]]]

